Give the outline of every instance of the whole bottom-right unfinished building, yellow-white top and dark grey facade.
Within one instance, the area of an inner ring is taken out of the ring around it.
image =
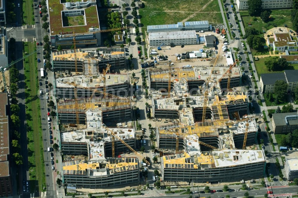
[[[187,150],[198,148],[188,142]],[[261,150],[219,150],[198,153],[177,153],[161,158],[161,178],[164,181],[219,183],[243,178],[262,178],[266,160]]]

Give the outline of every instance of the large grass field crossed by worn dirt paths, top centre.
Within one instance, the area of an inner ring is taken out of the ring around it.
[[[184,20],[223,23],[216,0],[144,0],[143,3],[145,7],[139,9],[139,15],[145,28],[148,25],[176,24]]]

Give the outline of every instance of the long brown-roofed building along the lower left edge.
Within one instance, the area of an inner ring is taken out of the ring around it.
[[[0,93],[0,197],[13,196],[10,170],[9,100],[7,92]]]

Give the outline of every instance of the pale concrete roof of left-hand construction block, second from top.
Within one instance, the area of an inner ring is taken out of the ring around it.
[[[128,75],[127,74],[106,74],[106,86],[117,85],[117,84],[126,84],[128,83]],[[62,83],[63,82],[63,83]],[[71,76],[65,78],[57,78],[56,85],[57,87],[64,87],[64,88],[74,88],[75,86],[71,84],[67,84],[67,82],[74,83],[76,82],[77,85],[81,87],[103,87],[103,80],[102,76],[94,75],[91,78],[86,77],[84,75],[80,76]]]

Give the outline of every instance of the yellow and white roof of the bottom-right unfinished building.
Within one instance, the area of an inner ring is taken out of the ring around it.
[[[261,150],[228,150],[202,152],[201,154],[190,155],[180,153],[166,155],[162,157],[164,168],[172,169],[201,169],[239,166],[265,162],[263,151]]]

